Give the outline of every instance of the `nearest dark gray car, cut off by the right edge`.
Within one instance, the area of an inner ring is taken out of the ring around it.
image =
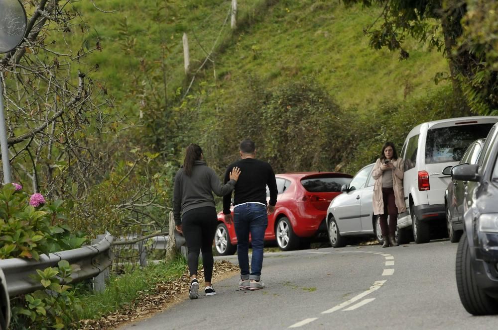
[[[473,315],[498,314],[498,126],[491,129],[475,165],[452,169],[464,188],[464,234],[456,257],[457,288]]]

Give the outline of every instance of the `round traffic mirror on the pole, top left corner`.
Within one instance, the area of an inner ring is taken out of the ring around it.
[[[26,11],[20,0],[0,0],[0,54],[21,43],[26,24]]]

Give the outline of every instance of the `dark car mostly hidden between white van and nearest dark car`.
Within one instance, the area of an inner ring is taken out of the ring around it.
[[[443,169],[443,174],[451,175],[452,168],[463,164],[477,164],[481,150],[483,150],[486,139],[478,139],[471,143],[465,151],[460,163],[455,166],[448,166]],[[452,179],[444,193],[444,204],[446,207],[446,228],[451,243],[458,243],[462,236],[463,225],[463,201],[467,181]]]

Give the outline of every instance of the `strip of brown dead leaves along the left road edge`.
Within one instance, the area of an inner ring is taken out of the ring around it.
[[[234,275],[239,267],[227,260],[217,261],[213,268],[213,280],[220,280]],[[204,279],[203,269],[199,270],[199,282]],[[139,292],[138,298],[119,311],[103,316],[99,320],[81,320],[82,330],[111,330],[126,323],[136,322],[142,318],[161,312],[168,307],[185,300],[188,294],[190,276],[185,269],[182,276],[174,281],[156,283],[154,293]]]

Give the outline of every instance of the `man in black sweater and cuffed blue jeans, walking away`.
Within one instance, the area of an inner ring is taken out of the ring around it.
[[[223,197],[223,213],[229,224],[235,222],[237,254],[241,268],[239,287],[243,290],[264,288],[261,281],[263,266],[264,232],[268,226],[268,214],[273,213],[277,201],[277,184],[271,165],[255,159],[254,142],[246,139],[240,146],[241,160],[228,166],[225,182],[230,179],[230,171],[238,166],[243,173],[235,185],[234,217],[230,212],[232,194]],[[266,205],[266,186],[270,200]],[[251,236],[252,259],[249,273],[249,233]]]

